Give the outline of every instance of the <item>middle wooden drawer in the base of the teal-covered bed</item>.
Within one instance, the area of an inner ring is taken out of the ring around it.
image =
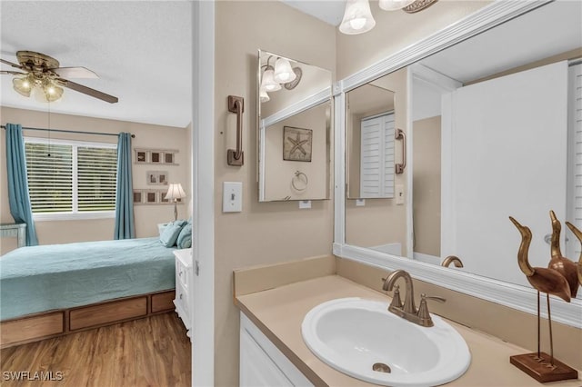
[[[90,326],[145,316],[146,314],[146,296],[116,303],[102,303],[71,311],[70,329],[75,331]]]

